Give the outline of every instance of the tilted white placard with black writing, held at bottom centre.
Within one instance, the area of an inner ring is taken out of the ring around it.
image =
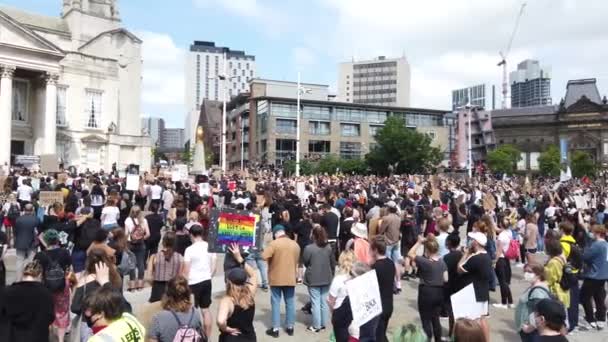
[[[372,270],[346,283],[353,324],[362,326],[382,314],[382,300],[376,271]]]

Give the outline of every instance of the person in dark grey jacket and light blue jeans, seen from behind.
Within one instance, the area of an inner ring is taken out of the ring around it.
[[[320,332],[326,329],[329,310],[327,296],[336,268],[336,258],[327,242],[327,233],[317,225],[312,230],[313,243],[304,249],[302,263],[306,267],[304,284],[312,302],[312,325],[308,331]]]

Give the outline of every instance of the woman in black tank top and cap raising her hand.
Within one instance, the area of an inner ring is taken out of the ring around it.
[[[219,341],[255,342],[257,338],[253,319],[257,277],[255,270],[244,263],[238,246],[231,246],[229,251],[243,268],[233,268],[228,272],[226,294],[220,301],[217,314]]]

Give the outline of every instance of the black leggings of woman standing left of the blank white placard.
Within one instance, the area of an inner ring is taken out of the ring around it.
[[[429,341],[435,337],[441,341],[441,324],[439,315],[443,305],[443,287],[420,285],[418,287],[418,311],[422,321],[422,329]]]

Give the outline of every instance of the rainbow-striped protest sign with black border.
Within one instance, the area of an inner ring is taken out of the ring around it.
[[[210,218],[210,253],[225,253],[232,243],[245,251],[261,245],[259,215],[243,210],[213,209]]]

